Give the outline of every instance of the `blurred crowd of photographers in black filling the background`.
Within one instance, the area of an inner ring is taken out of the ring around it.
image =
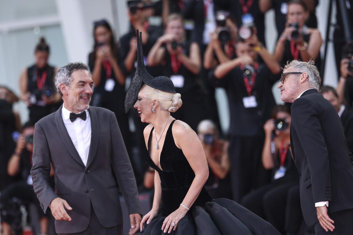
[[[333,35],[339,81],[321,94],[337,110],[353,150],[353,42],[344,38],[339,2]],[[344,6],[353,22],[353,1]],[[325,1],[326,3],[326,1]],[[287,61],[314,60],[321,75],[317,29],[318,0],[129,0],[129,31],[116,39],[107,20],[94,21],[94,45],[88,66],[94,81],[91,106],[115,113],[136,176],[139,192],[153,190],[154,170],[141,123],[125,114],[125,92],[136,70],[136,30],[142,32],[144,62],[152,76],[167,76],[181,94],[174,113],[195,130],[203,144],[210,176],[205,185],[213,198],[230,198],[261,216],[281,234],[310,231],[303,223],[299,174],[290,147],[290,104],[277,105],[272,87]],[[275,25],[264,14],[274,9]],[[150,20],[160,18],[161,23]],[[323,22],[324,24],[324,22]],[[265,41],[265,27],[277,30],[276,42]],[[352,32],[352,29],[351,29]],[[353,35],[351,35],[351,38]],[[56,111],[62,101],[55,90],[58,68],[48,62],[44,38],[34,49],[34,64],[19,76],[20,94],[0,86],[0,206],[2,234],[21,234],[23,206],[37,213],[37,234],[50,233],[51,214],[43,214],[29,174],[34,124]],[[270,53],[267,45],[275,44]],[[334,67],[330,67],[334,69]],[[226,91],[230,127],[223,133],[215,88]],[[21,125],[13,104],[24,101],[29,121]],[[54,173],[51,174],[55,186]]]

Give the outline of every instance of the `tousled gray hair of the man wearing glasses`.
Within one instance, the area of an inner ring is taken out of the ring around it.
[[[310,60],[309,62],[298,60],[288,61],[284,69],[288,69],[289,67],[294,69],[293,72],[306,73],[308,75],[308,81],[311,87],[319,91],[321,78],[313,60]]]

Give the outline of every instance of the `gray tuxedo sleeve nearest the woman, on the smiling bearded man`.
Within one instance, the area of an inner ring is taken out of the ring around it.
[[[112,139],[112,165],[127,210],[129,214],[141,214],[135,175],[113,112],[110,116],[110,135]]]

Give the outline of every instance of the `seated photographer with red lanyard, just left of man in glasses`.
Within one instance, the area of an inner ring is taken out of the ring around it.
[[[299,184],[299,174],[292,159],[291,115],[289,108],[277,105],[272,118],[264,125],[265,143],[262,164],[271,170],[271,183],[247,194],[245,208],[270,222],[281,234],[285,233],[286,200],[288,190]]]

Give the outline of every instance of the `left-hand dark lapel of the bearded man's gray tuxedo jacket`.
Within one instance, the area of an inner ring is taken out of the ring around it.
[[[64,144],[65,144],[67,150],[69,151],[69,153],[71,154],[71,156],[78,163],[80,163],[81,165],[84,166],[80,155],[77,153],[77,150],[76,150],[75,146],[73,145],[70,136],[68,135],[68,132],[67,132],[65,124],[64,124],[64,121],[62,120],[61,110],[62,110],[62,105],[55,112],[55,123],[56,123],[56,126],[58,127],[58,131],[59,131],[59,134],[61,136],[61,139],[62,139],[62,141],[64,141]]]

